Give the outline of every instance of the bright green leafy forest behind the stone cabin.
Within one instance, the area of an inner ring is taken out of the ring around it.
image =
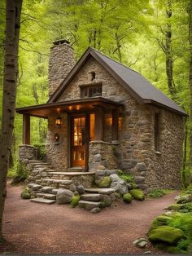
[[[1,1],[0,122],[5,21]],[[181,174],[187,185],[192,166],[192,0],[24,0],[16,107],[46,103],[50,46],[61,38],[71,42],[76,61],[93,46],[142,73],[184,108],[189,116]],[[46,143],[46,125],[46,120],[32,118],[33,144]],[[10,176],[21,139],[22,116],[16,114]]]

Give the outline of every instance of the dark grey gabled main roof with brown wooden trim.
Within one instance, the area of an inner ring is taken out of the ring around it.
[[[153,86],[151,82],[142,77],[140,73],[125,67],[123,64],[118,63],[116,60],[112,60],[91,47],[85,51],[75,67],[72,68],[72,71],[60,84],[58,89],[55,90],[55,93],[51,95],[48,103],[55,102],[59,98],[63,93],[63,90],[65,90],[68,84],[72,81],[72,78],[76,76],[76,73],[79,72],[91,56],[94,57],[103,68],[106,68],[111,76],[124,86],[124,89],[127,90],[129,95],[136,99],[139,104],[153,104],[161,108],[168,108],[168,110],[174,113],[186,116],[185,111],[178,104],[164,95],[160,90]]]

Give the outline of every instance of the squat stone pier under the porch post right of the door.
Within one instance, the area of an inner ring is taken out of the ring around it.
[[[97,170],[98,166],[116,169],[116,145],[103,141],[89,143],[89,170]]]

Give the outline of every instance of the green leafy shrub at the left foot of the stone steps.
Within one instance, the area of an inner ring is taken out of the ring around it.
[[[17,162],[15,167],[15,176],[11,182],[11,184],[15,185],[21,182],[24,182],[25,179],[28,178],[28,170],[26,166],[22,162]]]

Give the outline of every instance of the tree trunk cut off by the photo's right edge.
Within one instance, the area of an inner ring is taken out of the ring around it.
[[[189,60],[189,89],[190,89],[190,163],[189,170],[192,166],[192,0],[190,0],[188,8],[189,17],[189,43],[190,43],[190,60]]]

